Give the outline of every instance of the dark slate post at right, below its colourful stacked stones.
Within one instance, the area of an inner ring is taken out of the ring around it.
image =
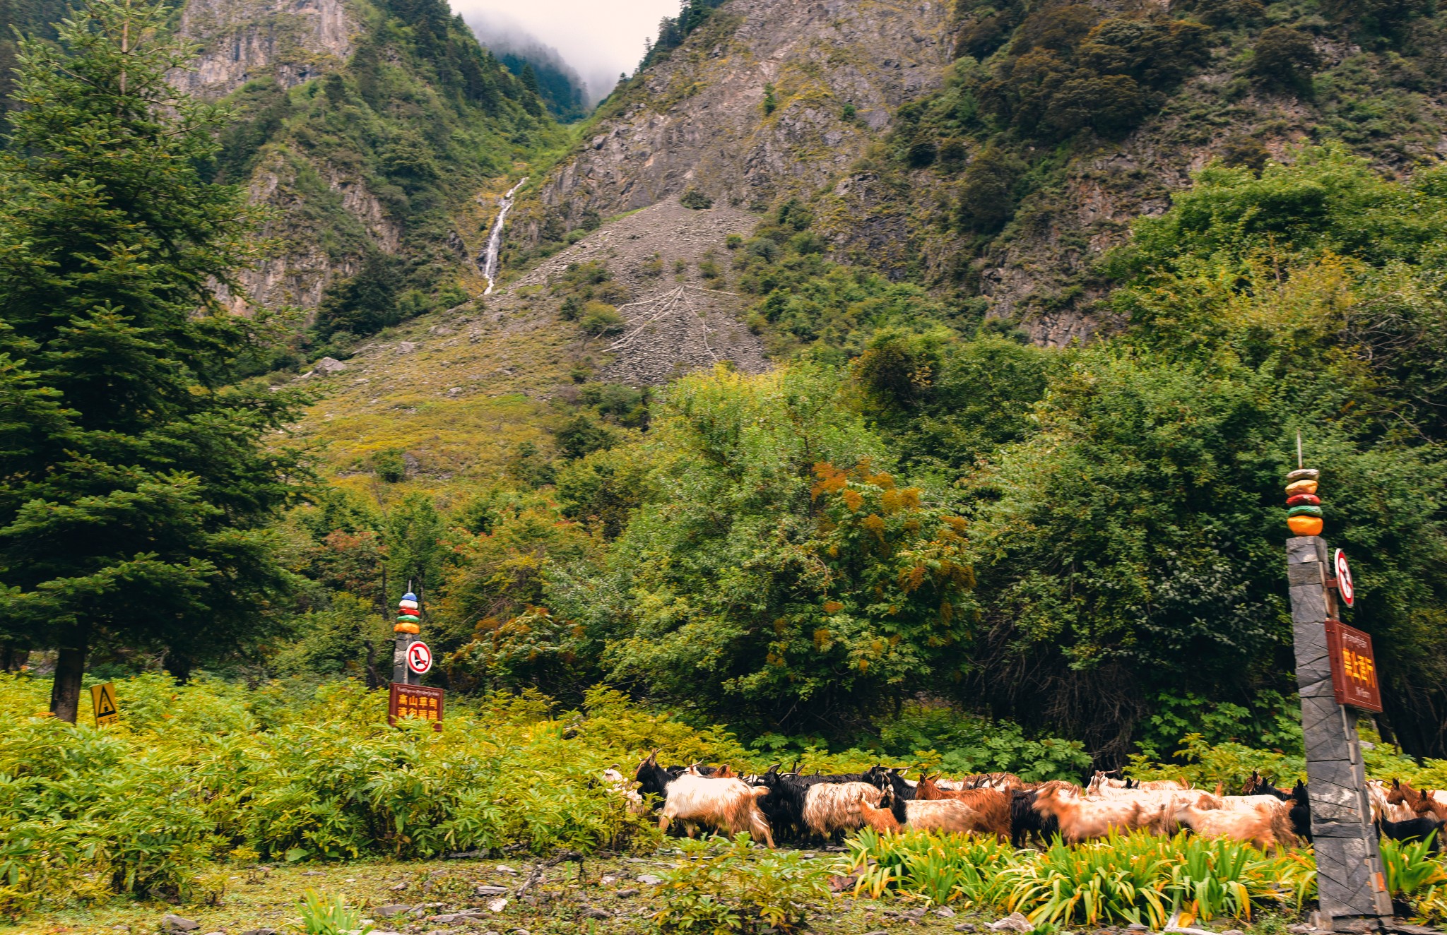
[[[1336,617],[1336,595],[1327,585],[1328,575],[1324,538],[1298,536],[1286,540],[1323,925],[1330,923],[1337,932],[1365,932],[1379,928],[1380,916],[1392,915],[1392,899],[1382,877],[1356,716],[1337,703],[1331,690],[1324,624]]]

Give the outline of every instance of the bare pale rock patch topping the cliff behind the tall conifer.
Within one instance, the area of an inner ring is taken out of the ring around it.
[[[295,87],[341,68],[360,30],[343,0],[190,0],[181,35],[201,43],[201,55],[175,82],[203,97],[266,77]]]

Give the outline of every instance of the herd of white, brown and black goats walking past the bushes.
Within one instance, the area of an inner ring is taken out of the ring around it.
[[[1013,773],[964,779],[904,779],[904,770],[874,766],[864,773],[805,776],[770,767],[738,776],[728,766],[658,766],[657,751],[638,766],[634,782],[616,769],[605,779],[640,813],[658,813],[660,829],[680,822],[689,837],[699,826],[726,835],[747,832],[778,841],[829,841],[870,826],[990,835],[1014,847],[1059,837],[1078,844],[1136,829],[1246,841],[1260,850],[1311,841],[1305,783],[1286,792],[1253,774],[1242,795],[1194,789],[1181,780],[1136,782],[1097,771],[1085,786],[1027,783]],[[1372,818],[1393,839],[1430,839],[1440,850],[1447,793],[1392,780],[1367,783]]]

